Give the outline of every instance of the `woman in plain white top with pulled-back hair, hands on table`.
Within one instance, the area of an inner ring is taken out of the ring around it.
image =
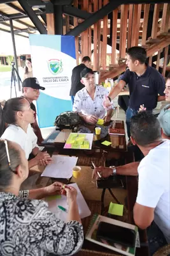
[[[34,111],[24,97],[7,100],[3,109],[0,104],[0,137],[18,143],[24,150],[26,159],[29,159],[31,153],[35,156],[29,161],[29,168],[52,162],[49,154],[39,151],[37,137],[31,127],[34,121]]]

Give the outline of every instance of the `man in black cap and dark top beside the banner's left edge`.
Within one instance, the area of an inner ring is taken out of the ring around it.
[[[32,103],[33,100],[38,100],[39,97],[39,89],[45,90],[45,87],[42,87],[39,85],[38,79],[36,77],[29,77],[26,78],[22,83],[22,92],[23,96],[29,100],[31,104],[31,109],[35,111],[34,117],[35,122],[32,124],[32,128],[34,129],[34,133],[36,134],[38,138],[38,143],[41,143],[43,141],[43,137],[41,134],[41,130],[39,129],[37,120],[36,120],[36,106],[34,103]]]

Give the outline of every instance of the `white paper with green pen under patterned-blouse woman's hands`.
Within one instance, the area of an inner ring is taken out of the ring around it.
[[[80,214],[81,219],[90,216],[91,212],[90,209],[85,202],[85,199],[83,198],[83,195],[81,194],[80,189],[78,188],[76,183],[70,184],[70,186],[73,186],[77,190],[77,204],[78,204],[78,211]],[[47,200],[48,202],[48,200]],[[64,212],[59,209],[58,205],[64,207],[65,209],[68,210],[68,205],[67,205],[67,197],[62,195],[61,198],[57,198],[55,200],[50,200],[48,202],[48,209],[55,213],[55,216],[59,218],[60,220],[67,220],[67,212]]]

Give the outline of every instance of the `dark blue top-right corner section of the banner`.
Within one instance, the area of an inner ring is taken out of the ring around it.
[[[73,38],[74,36],[61,36],[60,51],[76,59],[75,40]]]

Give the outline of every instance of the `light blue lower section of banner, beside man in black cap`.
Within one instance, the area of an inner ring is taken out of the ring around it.
[[[39,127],[51,127],[55,122],[56,116],[64,111],[72,110],[71,100],[57,99],[41,92],[37,101],[37,113]]]

